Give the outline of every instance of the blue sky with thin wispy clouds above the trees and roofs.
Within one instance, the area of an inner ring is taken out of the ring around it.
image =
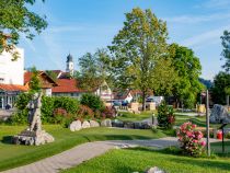
[[[25,67],[65,70],[71,54],[78,70],[78,58],[111,45],[124,26],[125,13],[137,7],[166,21],[169,44],[194,50],[203,78],[212,80],[222,70],[220,36],[230,31],[230,0],[37,0],[28,8],[46,15],[48,27],[33,41],[21,36]]]

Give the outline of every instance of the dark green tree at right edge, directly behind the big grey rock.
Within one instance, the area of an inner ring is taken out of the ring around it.
[[[226,96],[230,95],[230,73],[220,71],[214,78],[211,99],[215,104],[226,104]]]

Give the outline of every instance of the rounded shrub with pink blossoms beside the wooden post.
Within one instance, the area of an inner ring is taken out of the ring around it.
[[[191,122],[181,125],[177,132],[179,141],[182,150],[193,157],[199,157],[205,147],[205,141],[202,141],[203,132],[195,130],[196,125]]]

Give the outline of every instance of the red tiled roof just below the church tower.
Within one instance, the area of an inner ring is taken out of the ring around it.
[[[76,79],[58,79],[57,83],[58,86],[51,89],[54,93],[85,92],[78,88],[78,81]]]

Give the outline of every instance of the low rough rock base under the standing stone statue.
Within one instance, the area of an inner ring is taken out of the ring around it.
[[[45,130],[31,131],[23,130],[21,134],[15,135],[12,142],[15,145],[39,146],[55,141],[55,138]]]

